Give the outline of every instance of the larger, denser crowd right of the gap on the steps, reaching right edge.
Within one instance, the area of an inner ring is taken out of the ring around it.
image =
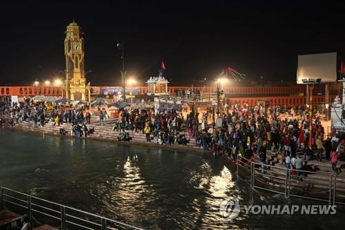
[[[179,111],[153,113],[146,110],[121,111],[119,122],[113,126],[117,131],[142,132],[146,141],[170,146],[174,143],[186,145],[195,139],[195,145],[215,155],[227,154],[235,160],[240,154],[251,159],[256,154],[266,163],[266,151],[279,153],[282,164],[292,169],[302,169],[308,160],[332,160],[335,155],[345,161],[344,136],[333,133],[324,140],[324,127],[320,118],[313,119],[309,132],[309,119],[292,109],[288,116],[281,116],[281,108],[268,110],[264,106],[236,104],[232,110],[224,111],[221,123],[209,124],[210,112],[191,111],[186,119]],[[199,124],[201,119],[201,124]],[[311,135],[311,148],[309,148]],[[302,159],[303,158],[303,159]],[[301,163],[302,162],[302,163]],[[336,164],[336,162],[335,162]]]

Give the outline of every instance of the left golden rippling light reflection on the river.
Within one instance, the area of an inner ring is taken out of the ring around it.
[[[97,196],[108,211],[124,220],[144,222],[150,220],[150,203],[155,202],[156,194],[152,184],[148,184],[141,176],[137,165],[137,155],[128,155],[123,165],[117,166],[117,171],[107,180],[97,185]]]

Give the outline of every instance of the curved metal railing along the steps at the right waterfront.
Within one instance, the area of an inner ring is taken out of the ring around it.
[[[262,164],[237,155],[237,178],[262,189],[285,195],[345,204],[345,176]]]

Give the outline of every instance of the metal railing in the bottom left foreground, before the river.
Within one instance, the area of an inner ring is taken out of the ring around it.
[[[124,222],[81,211],[1,186],[1,210],[4,209],[6,205],[12,205],[13,208],[16,209],[24,209],[24,213],[28,215],[30,222],[34,220],[37,224],[41,225],[38,220],[41,218],[45,221],[45,224],[59,224],[57,228],[61,230],[66,230],[68,227],[72,226],[78,229],[90,230],[140,229]]]

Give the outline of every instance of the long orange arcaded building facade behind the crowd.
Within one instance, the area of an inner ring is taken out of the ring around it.
[[[97,86],[91,87],[91,95],[97,96],[94,89]],[[98,86],[99,87],[99,86]],[[136,87],[139,88],[139,95],[147,93],[147,86]],[[168,86],[168,92],[174,94],[177,89],[188,90],[189,86]],[[216,93],[215,87],[193,87],[194,90],[200,90],[202,93]],[[270,106],[286,105],[286,106],[303,106],[306,104],[306,97],[303,95],[304,86],[234,86],[222,88],[226,94],[227,103],[232,106],[235,103],[247,103],[250,106],[257,104],[259,100],[268,100]],[[63,91],[61,87],[55,86],[0,86],[0,97],[10,97],[17,95],[19,97],[28,97],[34,95],[46,96],[62,96]],[[330,95],[330,101],[333,102],[334,95]],[[313,97],[313,104],[325,103],[325,96]]]

